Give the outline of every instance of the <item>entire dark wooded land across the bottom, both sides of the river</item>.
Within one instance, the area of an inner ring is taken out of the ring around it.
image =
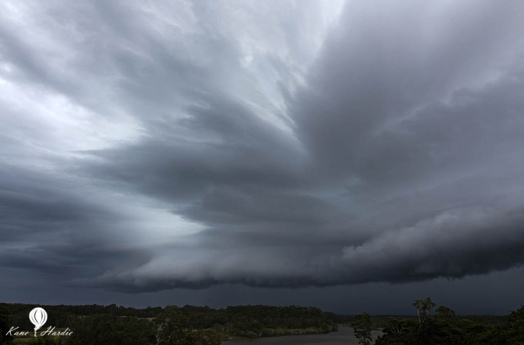
[[[429,300],[429,303],[432,302]],[[37,338],[34,337],[34,325],[28,317],[29,311],[36,307],[41,307],[47,312],[47,320],[38,330]],[[443,306],[436,308],[436,312],[430,315],[435,305],[429,307],[429,310],[419,313],[425,318],[422,321],[419,315],[377,315],[369,316],[369,321],[366,321],[368,324],[362,327],[374,332],[373,342],[377,335],[381,335],[376,344],[403,343],[400,341],[402,337],[410,339],[410,342],[407,342],[410,344],[432,344],[439,343],[438,341],[448,341],[440,342],[448,344],[517,344],[519,342],[504,341],[511,339],[511,336],[524,336],[524,307],[508,316],[457,316],[450,308]],[[140,309],[115,304],[103,306],[0,303],[0,343],[213,345],[233,340],[233,345],[236,342],[234,340],[238,339],[329,333],[343,326],[353,326],[357,330],[360,326],[355,325],[355,322],[362,315],[364,314],[357,317],[340,315],[319,308],[301,306],[239,305],[213,309],[208,306],[185,305]],[[27,331],[28,335],[19,336],[13,331],[9,332],[13,327],[19,332]],[[69,330],[72,333],[69,336],[42,337],[41,332],[49,327],[53,327],[55,331]],[[377,333],[376,330],[384,333]],[[343,338],[347,332],[344,329],[343,333],[337,335],[337,339]],[[449,339],[445,339],[446,336],[457,342],[449,342]],[[354,337],[353,332],[351,337]],[[425,342],[420,342],[417,337],[425,337]],[[468,337],[470,342],[460,342],[464,341],[464,337]],[[500,342],[482,342],[496,337]],[[321,338],[315,339],[315,343],[322,343],[318,340]],[[518,339],[515,341],[520,341]],[[275,343],[282,341],[286,342],[279,339]]]

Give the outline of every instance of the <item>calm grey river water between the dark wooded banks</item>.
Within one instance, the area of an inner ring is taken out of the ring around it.
[[[375,340],[381,331],[372,331],[371,335]],[[375,342],[373,342],[375,343]],[[223,341],[223,345],[357,345],[358,340],[353,334],[351,327],[339,327],[336,332],[322,333],[322,334],[308,334],[303,336],[282,336],[282,337],[267,337],[259,339],[241,339]]]

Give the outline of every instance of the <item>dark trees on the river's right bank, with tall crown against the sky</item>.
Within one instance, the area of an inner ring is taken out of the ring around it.
[[[376,345],[518,345],[524,344],[524,305],[508,316],[457,316],[445,306],[432,310],[436,304],[431,298],[415,301],[416,317],[383,320],[382,336]],[[370,344],[372,318],[368,314],[355,315],[352,320],[359,343]]]

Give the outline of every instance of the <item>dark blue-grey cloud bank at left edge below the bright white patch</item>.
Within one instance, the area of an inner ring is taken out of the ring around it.
[[[88,195],[71,192],[68,179],[14,166],[4,166],[0,176],[0,266],[62,281],[79,270],[100,274],[150,259],[126,244],[102,243],[112,241],[106,232],[121,216],[100,202],[90,202]]]

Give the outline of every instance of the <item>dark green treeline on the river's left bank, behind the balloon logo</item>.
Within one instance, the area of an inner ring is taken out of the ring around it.
[[[40,305],[39,305],[40,306]],[[0,304],[9,322],[31,330],[30,304]],[[339,316],[319,308],[299,306],[208,306],[124,308],[99,305],[41,306],[48,313],[46,326],[70,328],[71,337],[48,338],[49,344],[220,344],[237,337],[330,332]],[[1,318],[0,318],[1,319]],[[0,331],[6,332],[2,325]],[[38,338],[43,341],[43,338]],[[6,343],[10,340],[5,340]],[[48,344],[46,343],[46,345]]]

